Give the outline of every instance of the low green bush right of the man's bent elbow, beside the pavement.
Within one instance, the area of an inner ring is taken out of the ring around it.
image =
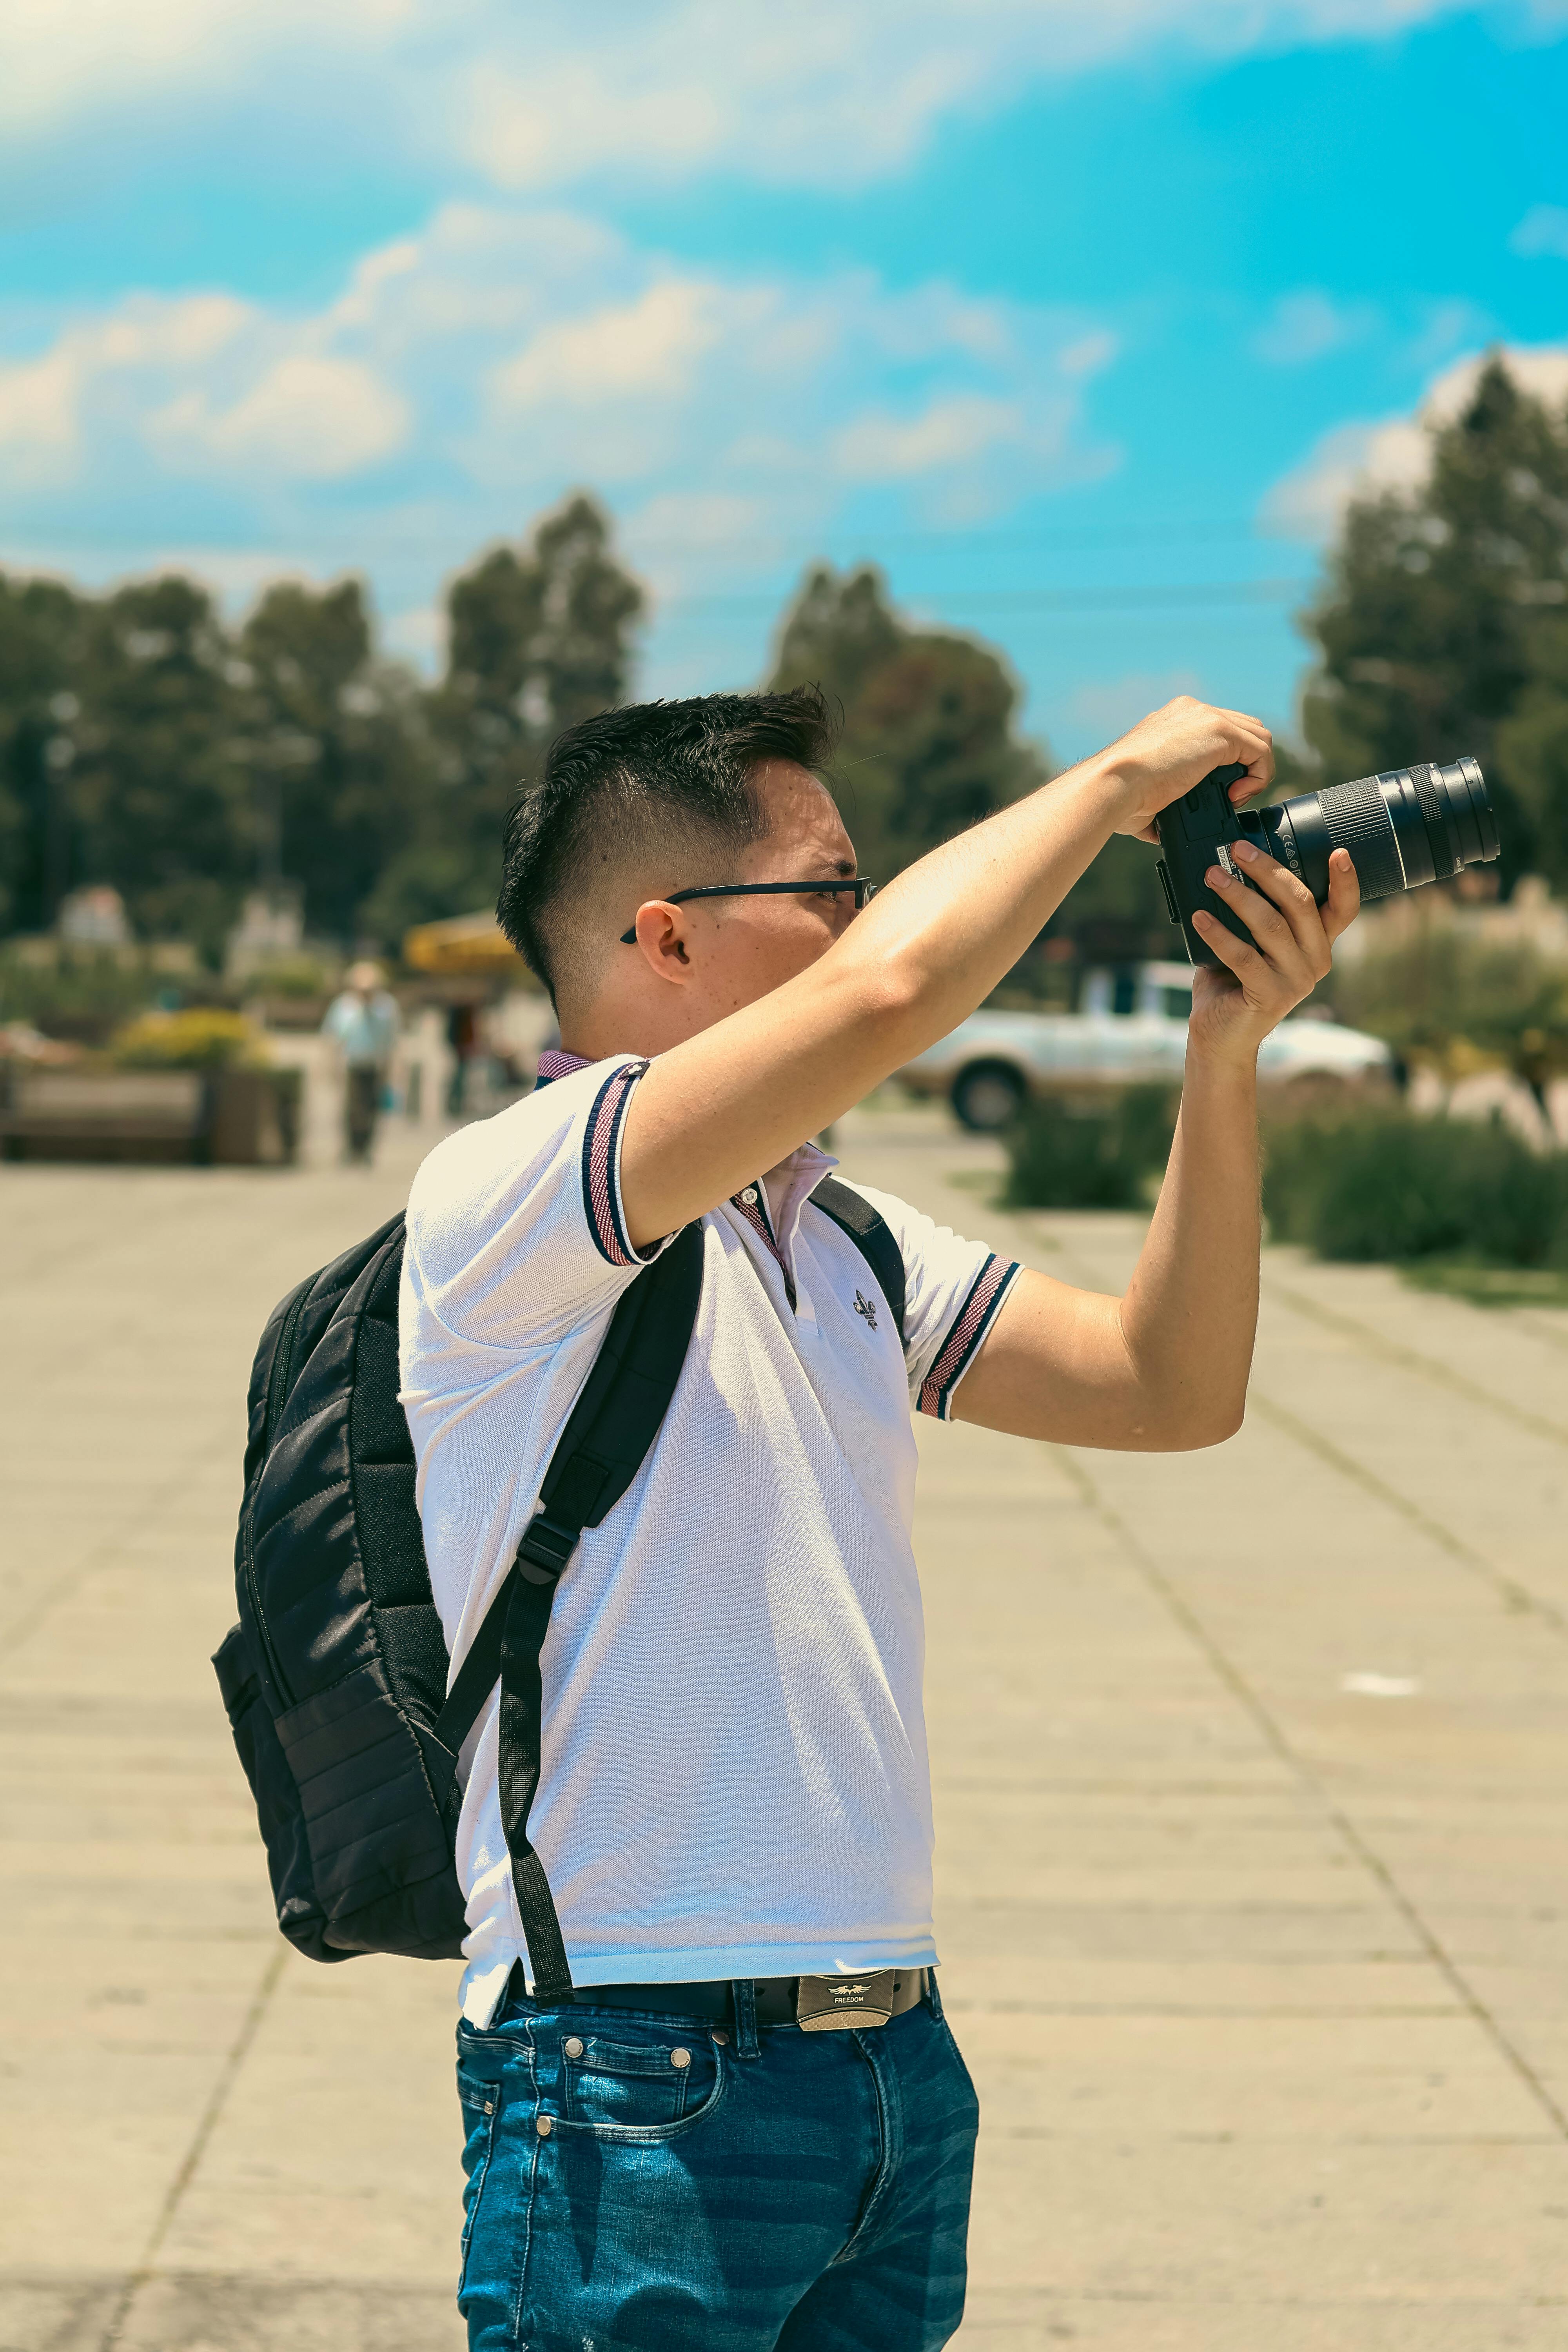
[[[1321,1258],[1568,1265],[1568,1152],[1533,1152],[1497,1117],[1274,1127],[1262,1204],[1276,1242]]]

